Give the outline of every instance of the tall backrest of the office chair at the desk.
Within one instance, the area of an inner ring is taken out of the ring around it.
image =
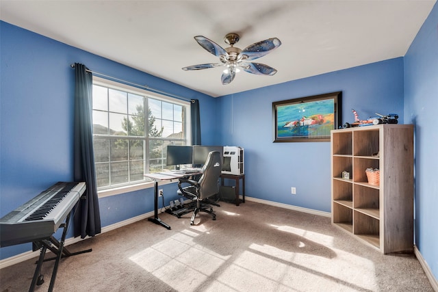
[[[219,177],[222,172],[222,161],[220,161],[220,152],[211,151],[208,154],[207,161],[203,166],[203,175],[198,181],[199,199],[208,198],[219,193]]]

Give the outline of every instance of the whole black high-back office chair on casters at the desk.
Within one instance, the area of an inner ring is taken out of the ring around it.
[[[207,161],[203,166],[203,174],[198,181],[194,181],[188,178],[179,178],[178,194],[193,200],[196,204],[192,207],[188,207],[181,215],[193,212],[190,225],[194,224],[194,218],[199,212],[205,212],[211,214],[213,220],[216,220],[216,214],[209,204],[206,203],[207,198],[219,193],[219,177],[222,171],[222,161],[220,161],[220,152],[211,151],[208,154]],[[188,183],[188,187],[182,187],[183,183]]]

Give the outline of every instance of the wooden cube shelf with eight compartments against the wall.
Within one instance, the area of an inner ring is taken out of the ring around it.
[[[384,254],[413,252],[413,125],[331,131],[331,180],[333,225]]]

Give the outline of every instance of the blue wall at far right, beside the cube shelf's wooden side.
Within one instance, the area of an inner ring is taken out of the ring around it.
[[[404,57],[404,116],[415,124],[415,243],[438,278],[438,3]]]

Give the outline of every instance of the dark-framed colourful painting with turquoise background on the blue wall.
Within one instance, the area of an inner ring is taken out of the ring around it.
[[[274,142],[330,142],[342,120],[342,92],[272,103]]]

